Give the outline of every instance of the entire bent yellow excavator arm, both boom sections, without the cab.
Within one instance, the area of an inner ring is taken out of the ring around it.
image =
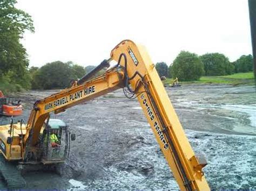
[[[49,113],[65,111],[79,103],[123,88],[127,98],[137,97],[157,142],[181,190],[210,190],[202,168],[206,161],[196,156],[145,47],[124,40],[111,51],[117,65],[103,75],[83,77],[71,88],[37,101],[30,114],[23,147],[25,158],[33,151]]]

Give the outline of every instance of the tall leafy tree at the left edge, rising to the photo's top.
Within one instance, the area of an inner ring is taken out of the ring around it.
[[[26,30],[34,32],[34,27],[31,16],[16,9],[16,3],[16,0],[0,2],[0,75],[11,72],[11,80],[28,87],[29,61],[20,40]]]

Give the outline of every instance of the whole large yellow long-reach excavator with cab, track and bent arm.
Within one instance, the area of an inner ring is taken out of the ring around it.
[[[117,64],[110,67],[112,60]],[[96,76],[102,69],[105,72]],[[63,121],[50,119],[50,113],[58,114],[120,88],[127,98],[138,98],[180,189],[210,190],[202,171],[207,164],[204,156],[194,154],[145,47],[131,40],[119,43],[112,49],[110,59],[71,87],[36,101],[27,123],[22,120],[0,126],[0,180],[9,188],[21,188],[24,180],[14,168],[10,169],[12,164],[64,162],[75,135]]]

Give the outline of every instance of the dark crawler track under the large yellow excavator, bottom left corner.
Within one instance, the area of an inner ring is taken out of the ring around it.
[[[21,189],[25,186],[26,182],[16,164],[6,161],[0,154],[0,189]]]

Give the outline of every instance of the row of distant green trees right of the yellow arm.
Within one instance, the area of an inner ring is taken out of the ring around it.
[[[180,81],[199,80],[201,76],[221,76],[253,71],[251,54],[242,55],[234,62],[221,53],[197,54],[181,51],[170,66],[165,62],[156,63],[159,76],[173,77]]]

